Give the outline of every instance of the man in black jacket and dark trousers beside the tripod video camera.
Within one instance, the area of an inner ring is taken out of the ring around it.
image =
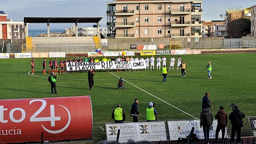
[[[245,114],[238,109],[238,106],[235,106],[235,110],[230,113],[228,116],[232,127],[231,127],[231,141],[234,141],[235,132],[237,132],[237,142],[241,142],[241,127],[243,127],[243,118]]]

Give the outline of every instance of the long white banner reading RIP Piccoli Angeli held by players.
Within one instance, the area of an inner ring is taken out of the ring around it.
[[[88,69],[145,69],[143,61],[100,61],[100,62],[77,62],[67,63],[67,71]]]

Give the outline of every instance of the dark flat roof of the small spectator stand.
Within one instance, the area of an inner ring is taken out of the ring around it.
[[[102,18],[30,18],[25,17],[24,23],[98,23]]]

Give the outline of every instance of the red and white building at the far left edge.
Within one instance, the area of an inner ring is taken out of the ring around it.
[[[23,20],[7,19],[7,16],[0,11],[0,39],[24,39]]]

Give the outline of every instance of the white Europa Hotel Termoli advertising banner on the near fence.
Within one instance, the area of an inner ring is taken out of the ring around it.
[[[106,129],[108,141],[116,140],[118,129],[120,129],[121,143],[129,140],[135,142],[167,140],[164,121],[106,124]]]

